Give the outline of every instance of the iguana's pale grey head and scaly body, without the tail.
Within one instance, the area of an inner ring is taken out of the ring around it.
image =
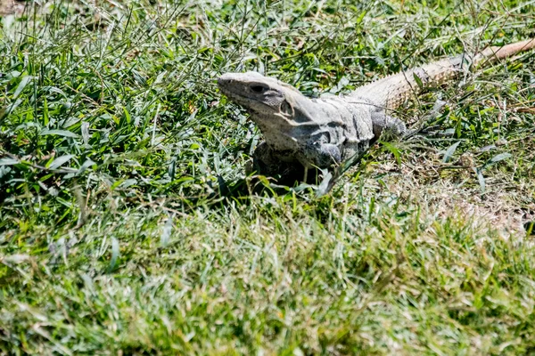
[[[229,99],[249,110],[264,134],[266,143],[255,151],[264,171],[277,171],[277,162],[299,162],[305,169],[339,164],[368,148],[374,138],[373,118],[384,116],[382,109],[367,101],[309,99],[294,87],[255,72],[226,73],[218,85]]]

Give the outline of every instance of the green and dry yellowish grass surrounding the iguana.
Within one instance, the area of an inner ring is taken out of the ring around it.
[[[535,352],[533,53],[407,102],[435,134],[321,198],[244,176],[215,85],[349,92],[533,36],[533,4],[37,3],[0,35],[1,354]]]

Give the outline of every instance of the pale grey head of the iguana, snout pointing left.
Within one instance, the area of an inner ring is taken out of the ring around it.
[[[218,86],[221,93],[248,109],[253,116],[292,119],[295,106],[303,97],[292,85],[257,72],[226,73],[219,77]]]

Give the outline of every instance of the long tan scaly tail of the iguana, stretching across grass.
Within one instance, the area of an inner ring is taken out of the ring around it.
[[[348,95],[349,98],[364,98],[385,109],[398,108],[411,94],[421,92],[425,85],[440,85],[455,77],[463,69],[465,61],[479,64],[482,61],[498,61],[517,53],[535,48],[535,38],[502,47],[488,47],[472,59],[466,54],[425,64],[416,69],[409,69],[389,77],[384,77],[368,85],[358,87]]]

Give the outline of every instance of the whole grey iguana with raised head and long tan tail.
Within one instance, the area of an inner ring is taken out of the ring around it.
[[[253,154],[255,170],[275,175],[302,165],[307,182],[309,168],[338,165],[367,150],[385,131],[406,134],[406,125],[389,114],[422,86],[455,77],[466,62],[506,59],[534,47],[535,38],[489,47],[472,58],[457,55],[384,77],[345,96],[310,99],[292,85],[256,72],[223,74],[218,87],[249,111],[264,135]]]

